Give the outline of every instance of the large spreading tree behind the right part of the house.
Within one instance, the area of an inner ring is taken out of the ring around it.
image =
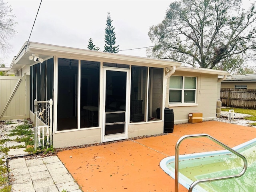
[[[148,33],[152,56],[214,68],[234,59],[255,57],[255,2],[245,11],[241,0],[177,0],[162,23]],[[250,52],[250,54],[248,54]],[[240,65],[240,64],[238,64]]]

